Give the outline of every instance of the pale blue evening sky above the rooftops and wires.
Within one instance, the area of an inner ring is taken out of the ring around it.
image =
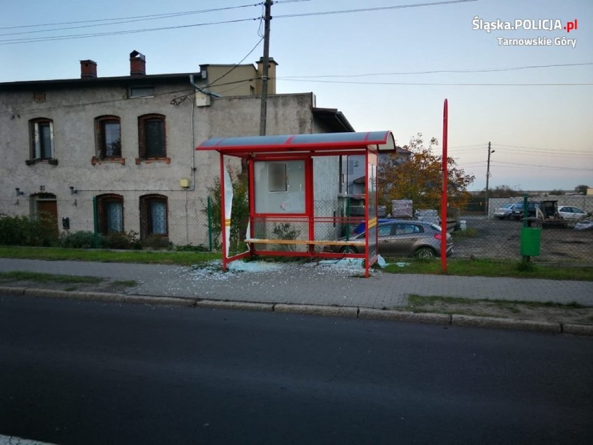
[[[255,64],[262,4],[0,0],[0,82],[77,79],[86,59],[126,76],[133,50],[147,74]],[[593,1],[278,0],[271,15],[276,92],[313,92],[398,145],[442,142],[447,99],[469,190],[486,186],[489,143],[490,189],[593,188]]]

